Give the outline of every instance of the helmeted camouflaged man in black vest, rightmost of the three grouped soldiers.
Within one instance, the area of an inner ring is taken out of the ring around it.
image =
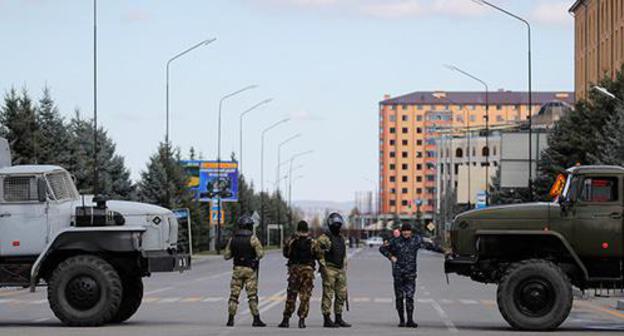
[[[321,300],[321,312],[323,313],[323,327],[325,328],[348,328],[351,325],[342,319],[342,309],[347,301],[347,247],[345,238],[340,233],[344,224],[342,216],[332,213],[327,217],[328,231],[318,238],[319,246],[323,251],[321,262],[321,276],[323,278],[323,299]],[[331,319],[332,298],[334,301],[334,314],[336,319]]]

